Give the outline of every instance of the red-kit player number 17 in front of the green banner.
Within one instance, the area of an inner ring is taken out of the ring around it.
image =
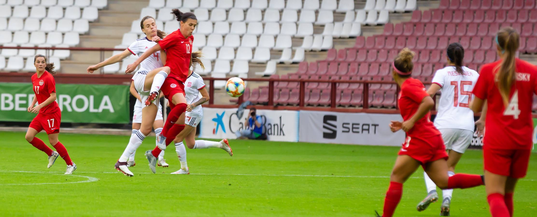
[[[67,171],[65,174],[72,174],[76,170],[76,164],[71,161],[67,149],[58,140],[60,133],[60,122],[62,113],[58,103],[56,103],[56,82],[53,74],[54,63],[47,63],[47,58],[41,54],[34,57],[35,74],[32,76],[32,89],[35,93],[35,98],[28,107],[28,112],[35,113],[35,116],[30,123],[28,131],[26,131],[26,141],[48,155],[48,166],[56,161],[58,156],[61,156],[67,163]],[[35,103],[38,102],[38,106]],[[43,140],[35,137],[41,130],[45,130],[48,134],[48,141],[56,151],[52,151]]]

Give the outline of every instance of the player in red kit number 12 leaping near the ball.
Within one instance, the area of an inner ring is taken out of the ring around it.
[[[157,137],[158,148],[146,152],[149,168],[153,173],[156,173],[158,154],[161,150],[166,149],[166,146],[175,139],[179,132],[185,129],[185,120],[179,117],[185,113],[187,107],[184,83],[188,77],[188,71],[190,71],[192,42],[194,41],[192,32],[198,24],[196,16],[191,12],[183,13],[178,9],[173,9],[171,13],[175,14],[180,28],[166,36],[163,40],[158,41],[158,44],[147,50],[133,64],[128,65],[125,71],[126,73],[134,71],[140,62],[153,55],[156,51],[166,51],[168,59],[166,60],[165,66],[170,68],[170,75],[168,76],[167,73],[160,72],[155,74],[149,98],[146,100],[146,105],[150,104],[151,101],[157,98],[158,91],[162,89],[165,98],[171,101],[171,110],[168,119],[166,119],[161,134]]]

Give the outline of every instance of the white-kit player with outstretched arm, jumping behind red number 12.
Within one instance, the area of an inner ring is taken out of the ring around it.
[[[146,37],[143,39],[136,40],[130,46],[124,50],[122,53],[114,55],[106,61],[101,62],[97,65],[92,65],[88,67],[88,73],[93,73],[93,71],[114,63],[120,62],[122,59],[130,56],[130,55],[142,55],[146,50],[153,47],[157,41],[164,38],[165,33],[162,31],[157,30],[157,25],[155,23],[155,19],[150,16],[146,16],[142,18],[140,22],[140,28],[143,33],[146,34]],[[165,62],[166,56],[164,52],[158,52],[151,57],[145,59],[141,63],[140,69],[134,73],[132,77],[132,87],[134,88],[134,91],[131,91],[131,93],[139,95],[137,96],[137,99],[141,101],[146,101],[147,98],[149,98],[149,90],[151,88],[151,84],[153,83],[153,78],[158,73],[168,74],[170,73],[170,68],[168,66],[163,66]],[[156,116],[158,114],[159,110],[159,102],[158,100],[153,101],[152,103],[146,104],[146,107],[143,107],[141,109],[142,115],[141,115],[141,123],[139,126],[139,130],[134,129],[132,131],[132,134],[130,135],[129,143],[127,147],[125,148],[125,151],[121,154],[121,157],[119,158],[118,162],[115,163],[114,168],[118,171],[121,171],[126,176],[134,176],[134,174],[128,169],[129,164],[127,161],[129,160],[130,155],[135,153],[136,149],[140,147],[142,144],[142,141],[146,138],[146,136],[149,135],[151,132],[151,129],[153,129],[153,124],[155,122]],[[135,113],[137,116],[137,119],[140,115],[139,113]],[[135,124],[133,123],[133,126]],[[157,137],[159,133],[162,130],[162,122],[159,124],[159,128],[155,129],[155,132],[157,134]],[[147,155],[147,153],[146,153]],[[164,161],[160,162],[162,166],[165,166]],[[134,161],[132,162],[132,166],[134,166]]]

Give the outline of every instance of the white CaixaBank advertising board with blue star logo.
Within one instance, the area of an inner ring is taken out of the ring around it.
[[[237,117],[237,109],[203,108],[200,137],[211,139],[235,139],[237,130],[244,130],[244,119],[250,109],[244,109],[241,119]],[[271,141],[299,140],[299,112],[288,110],[258,109],[264,121],[263,132]]]

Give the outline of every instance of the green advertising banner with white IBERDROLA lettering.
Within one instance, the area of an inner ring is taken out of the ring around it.
[[[126,85],[56,84],[64,123],[129,123]],[[32,84],[0,83],[0,121],[30,122],[26,110],[35,97]]]

